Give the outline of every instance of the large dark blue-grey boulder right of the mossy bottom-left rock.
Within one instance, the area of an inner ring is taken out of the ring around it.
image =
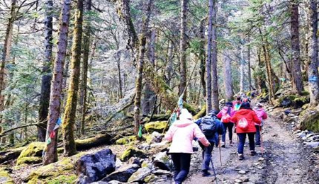
[[[116,155],[111,149],[102,149],[95,154],[82,156],[76,165],[77,174],[81,175],[78,183],[91,183],[115,171]]]

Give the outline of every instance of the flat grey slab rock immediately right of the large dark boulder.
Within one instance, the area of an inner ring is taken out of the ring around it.
[[[140,168],[138,164],[123,166],[119,168],[117,171],[114,171],[113,173],[103,178],[102,181],[117,180],[121,182],[127,182],[128,178],[130,178],[130,176],[132,176],[133,173],[138,171],[138,168]]]

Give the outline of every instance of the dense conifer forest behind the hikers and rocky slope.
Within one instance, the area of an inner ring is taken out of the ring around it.
[[[195,115],[252,91],[280,104],[291,84],[287,96],[315,107],[317,3],[2,0],[1,149],[47,142],[52,163],[57,142],[72,156],[75,139],[116,122],[138,135],[179,97]]]

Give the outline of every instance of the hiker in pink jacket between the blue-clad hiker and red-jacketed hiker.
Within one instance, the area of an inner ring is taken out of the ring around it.
[[[217,117],[223,122],[224,127],[224,133],[222,135],[222,147],[225,148],[226,145],[226,132],[228,130],[228,138],[229,138],[229,144],[233,144],[233,127],[234,123],[229,120],[230,117],[232,117],[235,114],[235,110],[233,108],[233,103],[228,102],[225,104],[225,107],[223,107],[222,110],[218,113]]]

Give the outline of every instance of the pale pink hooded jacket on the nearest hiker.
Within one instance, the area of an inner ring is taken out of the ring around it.
[[[205,135],[193,121],[177,120],[165,134],[165,139],[172,141],[169,153],[193,154],[194,137],[197,137],[204,146],[209,145]]]

